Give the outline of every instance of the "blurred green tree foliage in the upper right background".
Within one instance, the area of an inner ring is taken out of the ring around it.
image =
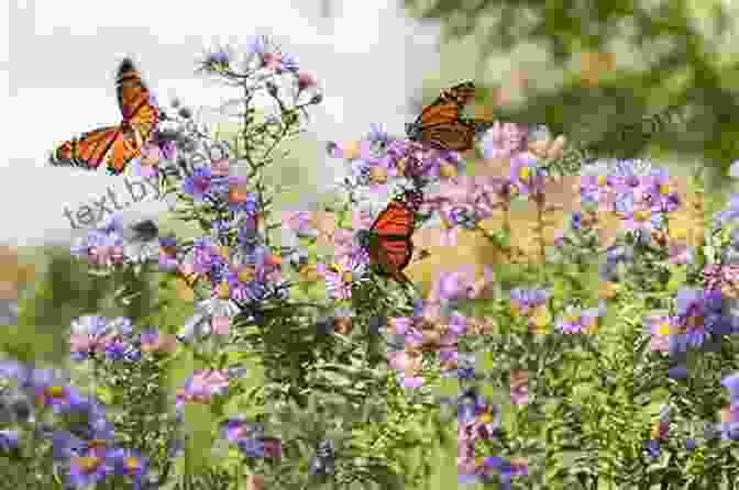
[[[481,62],[526,43],[545,47],[548,65],[526,74],[523,103],[503,103],[496,119],[545,123],[624,158],[653,143],[652,157],[682,154],[723,172],[736,159],[739,62],[730,56],[734,25],[720,2],[405,0],[405,7],[440,20],[445,42],[475,40]],[[493,88],[481,92],[495,99]],[[644,119],[669,107],[682,114],[682,127],[668,115]],[[622,131],[635,122],[646,127]]]

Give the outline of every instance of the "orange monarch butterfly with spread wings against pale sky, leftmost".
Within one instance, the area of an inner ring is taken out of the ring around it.
[[[159,121],[159,111],[141,80],[133,62],[125,58],[115,78],[118,107],[123,121],[118,126],[100,127],[63,143],[51,157],[52,165],[96,170],[106,162],[108,172],[119,175],[141,155]]]

